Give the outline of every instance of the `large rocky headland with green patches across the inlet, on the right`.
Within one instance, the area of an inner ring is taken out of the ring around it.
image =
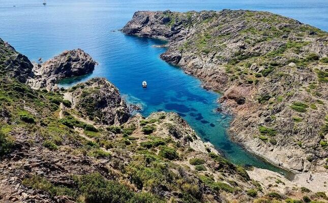
[[[167,40],[163,60],[222,92],[235,142],[289,170],[326,174],[327,32],[245,10],[140,11],[122,31]]]

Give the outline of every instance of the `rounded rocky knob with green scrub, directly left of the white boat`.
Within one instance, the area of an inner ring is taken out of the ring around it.
[[[129,108],[118,89],[105,78],[93,78],[69,89],[73,108],[98,124],[122,124],[129,117]]]

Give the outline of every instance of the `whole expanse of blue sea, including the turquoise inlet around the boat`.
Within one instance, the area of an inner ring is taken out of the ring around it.
[[[32,60],[49,59],[63,50],[82,48],[99,62],[93,74],[67,80],[64,86],[92,77],[106,77],[128,101],[140,103],[143,115],[174,111],[183,116],[204,141],[214,144],[236,164],[249,164],[286,173],[246,152],[229,140],[231,118],[214,113],[217,93],[201,88],[201,82],[159,58],[165,51],[152,45],[164,42],[126,36],[122,28],[137,10],[271,11],[328,30],[328,6],[319,1],[47,1],[0,0],[0,38]],[[13,7],[15,5],[16,7]],[[146,80],[148,87],[141,87]]]

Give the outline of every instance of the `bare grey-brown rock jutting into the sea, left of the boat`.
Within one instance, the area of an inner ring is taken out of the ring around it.
[[[81,49],[65,51],[44,63],[35,63],[34,75],[28,80],[28,84],[35,89],[53,89],[61,79],[91,73],[95,65],[97,62]]]

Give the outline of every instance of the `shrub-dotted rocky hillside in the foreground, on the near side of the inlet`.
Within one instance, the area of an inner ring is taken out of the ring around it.
[[[18,64],[19,59],[12,57],[18,53],[7,51],[2,41],[0,45],[0,64]],[[203,143],[175,113],[157,112],[147,118],[137,114],[128,120],[113,114],[115,125],[106,125],[98,116],[91,120],[85,106],[79,106],[80,101],[85,103],[83,90],[108,92],[100,99],[106,105],[92,106],[104,114],[109,107],[114,109],[109,114],[126,109],[117,89],[104,79],[48,91],[32,89],[18,80],[21,77],[14,77],[15,70],[27,72],[23,66],[6,67],[0,69],[1,202],[296,202],[291,198],[326,198],[323,192],[307,188],[292,186],[291,190],[289,184],[279,190],[285,186],[278,179],[276,186],[266,187],[251,180],[243,167]]]

